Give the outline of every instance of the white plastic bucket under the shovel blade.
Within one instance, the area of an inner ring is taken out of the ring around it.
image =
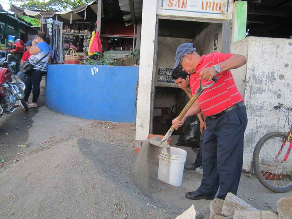
[[[173,186],[180,186],[186,162],[186,151],[174,147],[161,148],[158,157],[158,179]]]

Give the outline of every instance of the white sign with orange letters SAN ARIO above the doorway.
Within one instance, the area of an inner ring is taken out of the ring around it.
[[[233,0],[157,0],[158,15],[232,19]]]

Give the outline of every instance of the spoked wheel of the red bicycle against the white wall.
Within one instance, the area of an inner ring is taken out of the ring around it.
[[[253,169],[259,182],[276,193],[292,189],[292,155],[283,162],[290,144],[287,138],[288,134],[283,132],[268,133],[257,142],[252,155]],[[282,152],[277,155],[281,145]]]

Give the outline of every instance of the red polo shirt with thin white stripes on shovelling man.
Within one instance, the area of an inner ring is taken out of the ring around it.
[[[216,65],[229,59],[233,54],[224,53],[210,53],[203,55],[196,66],[196,72],[191,74],[189,85],[192,89],[192,94],[200,86],[200,72],[207,67]],[[221,75],[222,74],[222,75]],[[223,71],[217,74],[218,81],[210,88],[205,89],[199,96],[199,103],[202,113],[206,116],[216,115],[225,109],[240,103],[243,100],[240,92],[238,91],[231,71]],[[203,85],[209,85],[213,81],[206,81],[202,79]]]

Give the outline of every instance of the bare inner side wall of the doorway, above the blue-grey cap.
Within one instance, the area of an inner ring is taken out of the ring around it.
[[[199,33],[193,43],[199,55],[214,52],[214,36],[218,33],[218,46],[215,52],[221,50],[222,24],[210,23],[201,33]]]

